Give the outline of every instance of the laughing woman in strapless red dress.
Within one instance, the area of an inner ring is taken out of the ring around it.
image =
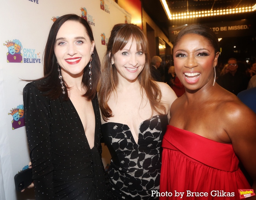
[[[256,114],[215,83],[217,36],[191,24],[177,35],[173,53],[185,94],[170,109],[159,199],[240,199],[238,189],[256,191]],[[254,180],[252,187],[240,161]]]

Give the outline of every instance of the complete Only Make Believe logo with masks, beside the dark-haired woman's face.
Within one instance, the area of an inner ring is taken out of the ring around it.
[[[23,48],[22,43],[17,39],[5,41],[4,46],[8,48],[6,53],[8,63],[41,63],[39,58],[41,53],[36,53],[35,49]]]

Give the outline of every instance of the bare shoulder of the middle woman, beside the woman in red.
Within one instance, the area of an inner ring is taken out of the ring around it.
[[[173,101],[177,99],[177,95],[173,91],[173,89],[163,82],[155,82],[160,87],[162,92],[162,100],[163,102],[167,102],[169,105],[172,105]]]

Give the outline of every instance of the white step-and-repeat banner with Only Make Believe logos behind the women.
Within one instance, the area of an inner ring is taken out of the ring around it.
[[[22,97],[27,82],[22,80],[43,76],[50,27],[61,15],[82,16],[93,29],[102,60],[112,27],[131,23],[131,15],[113,0],[1,0],[0,8],[0,200],[28,200],[33,195],[17,193],[14,185],[15,174],[30,161]],[[103,146],[106,168],[108,162]]]

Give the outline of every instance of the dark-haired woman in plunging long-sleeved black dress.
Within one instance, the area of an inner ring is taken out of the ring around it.
[[[44,52],[44,77],[23,90],[35,197],[106,199],[97,99],[100,60],[86,20],[59,17]]]

